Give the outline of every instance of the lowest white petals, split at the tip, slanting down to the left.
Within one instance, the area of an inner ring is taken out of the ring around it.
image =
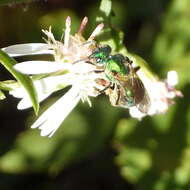
[[[63,97],[47,109],[31,126],[39,127],[42,136],[51,137],[80,100],[79,89],[72,87]]]

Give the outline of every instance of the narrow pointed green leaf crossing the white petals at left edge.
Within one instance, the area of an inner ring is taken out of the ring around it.
[[[38,102],[37,93],[34,88],[32,80],[27,75],[17,72],[13,68],[13,65],[15,65],[17,62],[13,58],[9,57],[2,50],[0,50],[0,62],[16,78],[16,80],[25,88],[32,102],[34,111],[37,115],[38,110],[39,110],[39,102]]]

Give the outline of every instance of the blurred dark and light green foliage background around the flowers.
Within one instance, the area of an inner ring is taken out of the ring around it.
[[[15,2],[0,0],[0,48],[43,42],[41,29],[49,25],[60,39],[68,15],[73,32],[88,16],[89,35],[100,4]],[[112,9],[112,24],[124,32],[127,49],[144,58],[161,78],[176,70],[184,98],[166,114],[139,122],[100,96],[92,99],[92,108],[80,103],[47,138],[29,128],[33,110],[17,111],[18,101],[7,95],[0,102],[0,189],[190,189],[190,1],[115,0]],[[10,78],[2,66],[0,76]],[[62,94],[43,102],[41,111]]]

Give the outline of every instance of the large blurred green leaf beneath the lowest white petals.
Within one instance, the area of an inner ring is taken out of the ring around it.
[[[55,100],[49,98],[41,111]],[[38,129],[25,130],[16,136],[12,145],[14,148],[1,155],[0,169],[11,174],[30,171],[48,172],[54,176],[64,168],[88,159],[95,152],[102,152],[115,130],[114,121],[119,113],[118,109],[110,107],[108,101],[99,99],[96,109],[89,110],[87,104],[81,104],[80,109],[73,110],[51,139],[42,138]],[[103,119],[108,115],[109,119]],[[30,123],[31,117],[27,119],[27,125]]]

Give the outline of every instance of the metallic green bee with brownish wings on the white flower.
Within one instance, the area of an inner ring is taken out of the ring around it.
[[[129,108],[136,106],[141,112],[147,113],[150,105],[149,96],[144,84],[136,72],[140,67],[132,67],[132,61],[122,54],[111,54],[110,46],[98,47],[89,56],[92,63],[105,73],[105,89],[111,104]]]

